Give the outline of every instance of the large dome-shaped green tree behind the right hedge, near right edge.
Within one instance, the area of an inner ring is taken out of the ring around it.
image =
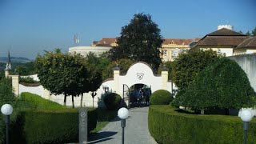
[[[228,114],[231,108],[255,106],[255,98],[242,68],[233,60],[221,58],[202,70],[174,103],[198,110],[221,108]]]

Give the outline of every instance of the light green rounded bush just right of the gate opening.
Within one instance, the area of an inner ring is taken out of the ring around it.
[[[167,90],[157,90],[150,96],[150,105],[169,105],[173,100]]]

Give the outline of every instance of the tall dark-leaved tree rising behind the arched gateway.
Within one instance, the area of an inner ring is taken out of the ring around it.
[[[161,63],[160,51],[162,36],[158,25],[151,20],[149,14],[134,14],[130,24],[122,27],[118,37],[118,46],[110,50],[110,58],[118,60],[130,58],[136,62],[149,63],[155,70]]]

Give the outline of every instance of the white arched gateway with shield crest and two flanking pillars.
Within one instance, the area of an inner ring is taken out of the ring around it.
[[[144,84],[150,86],[152,93],[156,90],[168,90],[170,93],[174,89],[174,83],[168,82],[168,70],[163,68],[161,74],[154,74],[152,68],[146,62],[136,62],[130,66],[126,74],[120,74],[120,68],[114,67],[114,78],[102,83],[103,89],[117,93],[124,98],[126,105],[130,105],[127,91],[130,86]]]

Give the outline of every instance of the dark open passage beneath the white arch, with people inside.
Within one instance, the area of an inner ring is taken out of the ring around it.
[[[130,95],[129,95],[129,107],[142,107],[149,106],[150,104],[150,95],[151,95],[151,86],[147,86],[142,83],[134,84],[130,86]]]

